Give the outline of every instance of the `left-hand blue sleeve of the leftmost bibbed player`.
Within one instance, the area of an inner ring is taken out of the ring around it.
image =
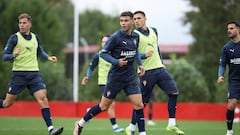
[[[12,34],[8,41],[7,41],[7,44],[4,48],[4,52],[3,52],[3,55],[2,55],[2,59],[4,61],[11,61],[14,59],[13,57],[13,49],[14,47],[16,46],[17,44],[17,35],[16,34]]]

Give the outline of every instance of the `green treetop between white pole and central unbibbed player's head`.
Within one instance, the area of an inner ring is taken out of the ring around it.
[[[96,44],[104,34],[112,34],[120,28],[118,16],[106,15],[98,10],[81,13],[79,22],[79,35],[89,44]]]

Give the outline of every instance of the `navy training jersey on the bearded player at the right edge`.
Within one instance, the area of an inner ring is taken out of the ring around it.
[[[223,49],[219,62],[218,77],[223,76],[226,65],[229,66],[229,80],[240,79],[240,42],[227,42]]]

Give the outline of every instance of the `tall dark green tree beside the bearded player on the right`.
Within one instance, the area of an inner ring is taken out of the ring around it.
[[[193,10],[186,12],[184,23],[191,24],[192,43],[188,61],[202,72],[216,101],[216,79],[221,48],[227,42],[226,26],[239,20],[239,0],[188,0]]]

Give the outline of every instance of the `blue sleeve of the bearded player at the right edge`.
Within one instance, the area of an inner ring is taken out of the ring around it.
[[[227,65],[227,56],[226,56],[226,49],[223,47],[221,58],[219,61],[219,67],[218,67],[218,77],[224,76],[225,70]]]

